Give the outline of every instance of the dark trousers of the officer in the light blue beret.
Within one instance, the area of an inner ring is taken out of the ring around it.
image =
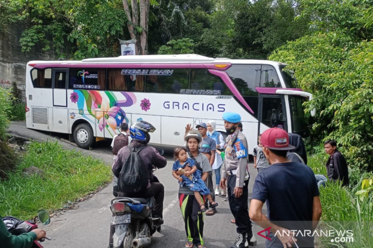
[[[251,229],[251,220],[248,213],[248,184],[249,180],[244,181],[242,196],[236,198],[233,194],[236,186],[236,175],[228,176],[228,200],[229,208],[236,219],[237,233],[247,233],[248,237],[253,236]]]

